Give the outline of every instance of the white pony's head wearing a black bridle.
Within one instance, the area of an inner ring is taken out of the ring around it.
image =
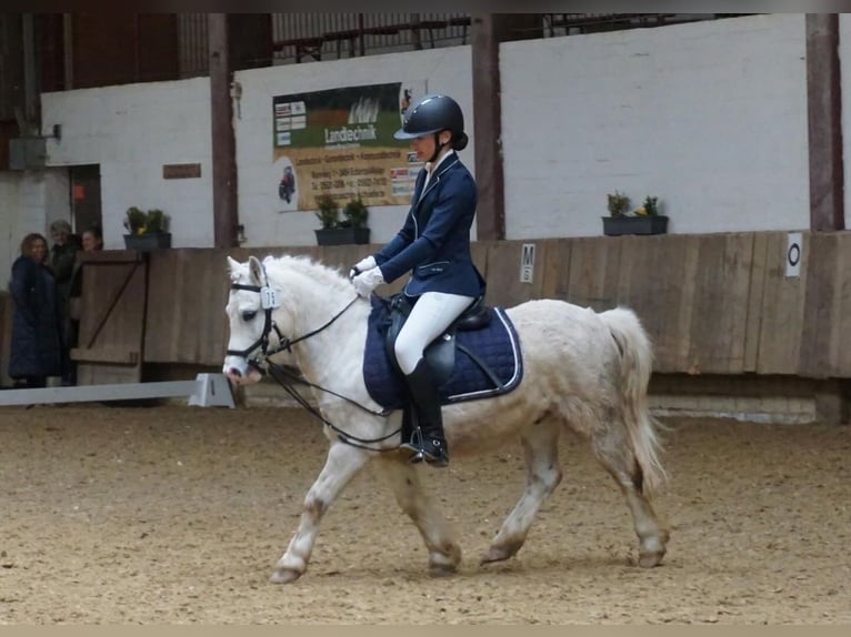
[[[258,360],[266,356],[270,343],[281,341],[272,313],[281,306],[282,293],[270,285],[266,267],[256,256],[247,263],[228,256],[228,264],[230,297],[224,312],[230,337],[222,371],[234,384],[257,383],[262,377]]]

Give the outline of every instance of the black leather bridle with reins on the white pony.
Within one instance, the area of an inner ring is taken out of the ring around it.
[[[310,383],[300,376],[293,374],[292,372],[289,372],[284,368],[283,365],[278,365],[277,363],[273,363],[269,360],[269,356],[273,356],[274,354],[278,354],[280,352],[291,352],[292,345],[296,343],[299,343],[301,341],[307,341],[311,336],[314,336],[332,325],[334,321],[337,321],[340,316],[342,316],[349,307],[351,307],[354,302],[358,300],[358,296],[356,295],[354,299],[352,299],[342,310],[340,310],[337,314],[334,314],[329,321],[327,321],[322,326],[318,327],[317,330],[312,330],[311,332],[308,332],[307,334],[303,334],[297,338],[288,338],[283,334],[281,334],[281,331],[278,328],[278,325],[272,320],[272,311],[276,307],[280,307],[281,301],[280,301],[280,292],[276,290],[274,287],[271,287],[269,285],[269,279],[266,274],[266,267],[263,267],[263,283],[264,285],[247,285],[244,283],[231,283],[230,289],[231,290],[246,290],[248,292],[257,292],[260,294],[260,305],[263,309],[263,312],[266,314],[264,321],[263,321],[263,332],[260,334],[260,337],[254,341],[251,345],[246,347],[244,350],[227,350],[227,354],[229,356],[241,356],[243,357],[249,366],[256,368],[261,374],[266,374],[266,368],[263,367],[263,364],[266,367],[269,368],[269,373],[274,378],[281,387],[292,397],[296,400],[296,402],[301,405],[309,414],[313,415],[314,417],[319,418],[328,425],[331,429],[333,429],[337,433],[337,437],[340,439],[340,442],[343,442],[348,445],[367,449],[370,452],[392,452],[398,448],[397,447],[389,447],[389,448],[376,448],[370,447],[366,445],[377,444],[387,441],[388,438],[393,437],[398,433],[401,432],[401,427],[396,429],[394,432],[382,436],[380,438],[360,438],[358,436],[353,436],[351,434],[346,433],[344,431],[340,429],[337,425],[331,423],[328,418],[326,418],[319,410],[313,407],[307,398],[304,398],[301,394],[299,394],[298,390],[296,390],[296,384],[307,385],[308,387],[312,387],[314,390],[319,390],[321,392],[324,392],[327,394],[331,394],[332,396],[336,396],[338,398],[342,398],[347,403],[350,403],[360,410],[373,415],[373,416],[381,416],[387,417],[392,413],[392,410],[383,408],[380,412],[377,412],[376,410],[371,410],[367,407],[366,405],[360,404],[358,401],[350,398],[348,396],[343,396],[341,394],[338,394],[336,392],[332,392],[331,390],[327,390],[320,385],[314,385],[313,383]],[[269,346],[269,335],[274,332],[276,336],[278,337],[278,344],[274,347]],[[249,354],[254,352],[256,350],[260,348],[260,354],[258,356],[252,356],[249,358]]]

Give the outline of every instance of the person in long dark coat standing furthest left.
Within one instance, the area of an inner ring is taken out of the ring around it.
[[[12,263],[9,376],[18,387],[44,387],[48,376],[62,372],[57,286],[47,259],[47,240],[32,233],[23,239],[21,255]]]

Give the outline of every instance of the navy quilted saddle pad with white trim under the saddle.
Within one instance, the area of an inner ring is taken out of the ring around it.
[[[404,382],[393,368],[384,341],[390,311],[386,299],[373,294],[370,300],[372,312],[363,354],[363,380],[370,396],[379,405],[401,410],[407,404]],[[455,343],[455,365],[449,378],[438,387],[442,404],[497,396],[520,384],[523,377],[520,341],[502,307],[493,307],[493,316],[485,327],[457,332]],[[462,347],[473,352],[501,385],[495,386]]]

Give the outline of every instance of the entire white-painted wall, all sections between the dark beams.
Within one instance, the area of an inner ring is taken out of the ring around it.
[[[841,52],[851,60],[845,17],[841,29]],[[659,196],[671,216],[670,232],[807,229],[804,55],[801,13],[502,44],[509,239],[599,235],[605,194],[615,189],[635,205],[647,194]],[[274,95],[426,81],[429,90],[459,100],[472,135],[471,74],[469,47],[237,73],[239,215],[247,245],[316,243],[311,212],[278,212],[270,140]],[[851,90],[851,81],[845,87]],[[130,205],[170,213],[174,246],[212,245],[209,79],[49,93],[42,111],[44,131],[62,125],[61,140],[48,140],[49,164],[60,166],[54,172],[101,165],[107,247],[123,245]],[[851,115],[843,117],[851,130]],[[472,149],[471,140],[461,156],[474,170]],[[162,179],[163,164],[184,162],[200,162],[201,179]],[[38,189],[28,174],[6,173],[0,190],[16,191],[9,185],[16,180]],[[30,214],[27,206],[50,202],[52,209],[61,181],[52,183],[53,194],[41,200],[17,188],[18,194],[0,194],[0,201],[26,200],[23,215]],[[389,240],[406,212],[407,206],[371,210],[372,240]],[[37,220],[22,219],[43,228],[50,214],[41,210]],[[8,254],[3,259],[0,264]]]

